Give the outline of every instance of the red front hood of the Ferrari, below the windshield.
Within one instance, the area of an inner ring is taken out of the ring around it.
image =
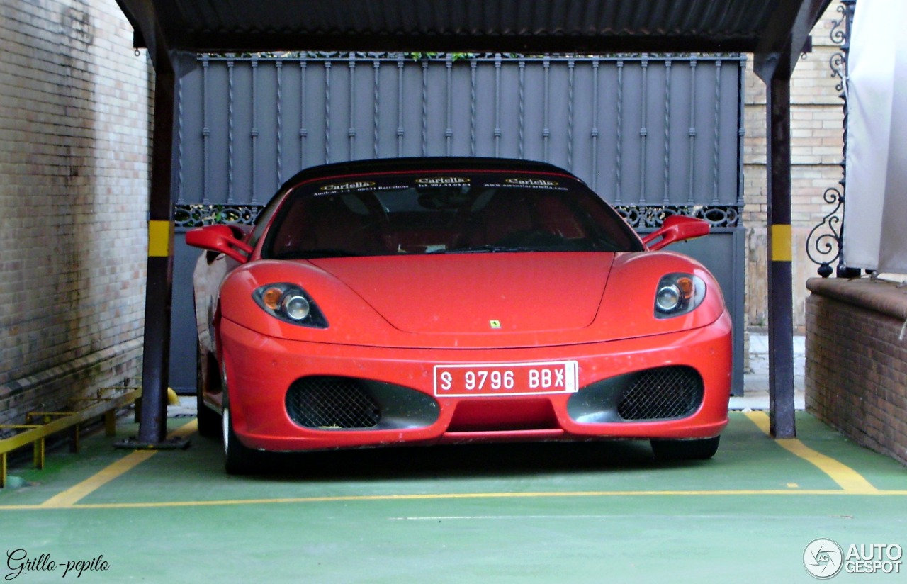
[[[491,335],[590,326],[614,254],[482,253],[309,261],[353,290],[398,330]]]

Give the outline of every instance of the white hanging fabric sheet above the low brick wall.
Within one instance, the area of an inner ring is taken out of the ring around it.
[[[844,263],[907,273],[907,2],[859,0],[847,83]]]

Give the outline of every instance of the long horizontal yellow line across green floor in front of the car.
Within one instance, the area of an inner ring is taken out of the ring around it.
[[[721,490],[721,491],[588,491],[588,492],[454,492],[438,494],[409,494],[409,495],[341,495],[334,497],[289,497],[281,499],[239,499],[217,501],[146,501],[124,503],[85,503],[65,507],[48,507],[41,505],[6,505],[0,506],[0,511],[34,511],[38,509],[158,509],[165,507],[215,507],[230,505],[274,505],[292,503],[329,503],[350,501],[439,501],[452,499],[518,499],[541,497],[715,497],[715,496],[764,496],[764,495],[818,495],[818,496],[907,496],[907,491],[879,491],[854,492],[840,489],[811,489],[811,490]]]

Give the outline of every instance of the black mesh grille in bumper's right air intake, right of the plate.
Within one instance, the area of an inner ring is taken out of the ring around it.
[[[702,403],[702,380],[689,367],[639,372],[618,404],[624,420],[664,420],[693,414]]]

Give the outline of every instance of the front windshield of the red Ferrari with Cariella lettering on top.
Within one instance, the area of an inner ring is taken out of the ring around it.
[[[300,184],[268,229],[262,258],[641,249],[579,180],[456,170]]]

